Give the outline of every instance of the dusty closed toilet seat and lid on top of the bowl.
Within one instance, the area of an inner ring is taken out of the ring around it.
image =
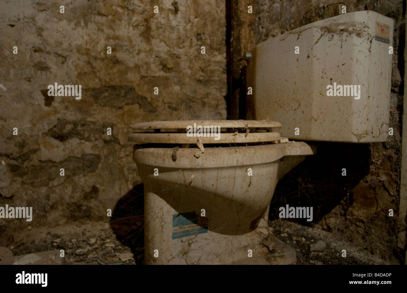
[[[218,126],[219,139],[212,136],[188,136],[188,127]],[[129,141],[136,143],[260,143],[280,141],[278,132],[271,128],[280,128],[281,124],[269,120],[181,120],[142,122],[132,126]]]

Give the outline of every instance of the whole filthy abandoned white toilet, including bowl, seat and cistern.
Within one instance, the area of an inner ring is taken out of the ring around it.
[[[373,11],[314,22],[251,50],[248,120],[133,125],[145,263],[295,263],[268,227],[276,184],[316,153],[312,141],[387,140],[392,34]],[[329,95],[333,85],[358,93]]]

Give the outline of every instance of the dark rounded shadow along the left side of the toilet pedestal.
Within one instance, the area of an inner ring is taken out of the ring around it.
[[[144,184],[134,186],[118,200],[110,226],[118,241],[128,246],[137,265],[144,260]]]

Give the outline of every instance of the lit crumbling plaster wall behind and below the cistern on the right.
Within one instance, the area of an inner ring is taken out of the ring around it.
[[[347,13],[372,10],[394,19],[390,109],[390,127],[394,128],[394,135],[389,136],[386,143],[370,144],[368,174],[342,204],[328,213],[318,225],[348,239],[354,245],[360,245],[368,254],[379,254],[386,258],[393,255],[394,250],[405,247],[404,219],[400,219],[397,224],[404,94],[405,3],[402,0],[256,0],[256,43],[338,15],[338,7],[342,5],[346,6]],[[390,208],[394,210],[393,218],[389,217]]]

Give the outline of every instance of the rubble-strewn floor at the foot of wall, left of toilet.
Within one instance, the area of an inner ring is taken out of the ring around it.
[[[116,239],[106,222],[31,228],[16,236],[14,243],[18,244],[0,247],[0,264],[135,265],[143,261],[143,247],[131,251]],[[61,250],[64,257],[60,257]]]

